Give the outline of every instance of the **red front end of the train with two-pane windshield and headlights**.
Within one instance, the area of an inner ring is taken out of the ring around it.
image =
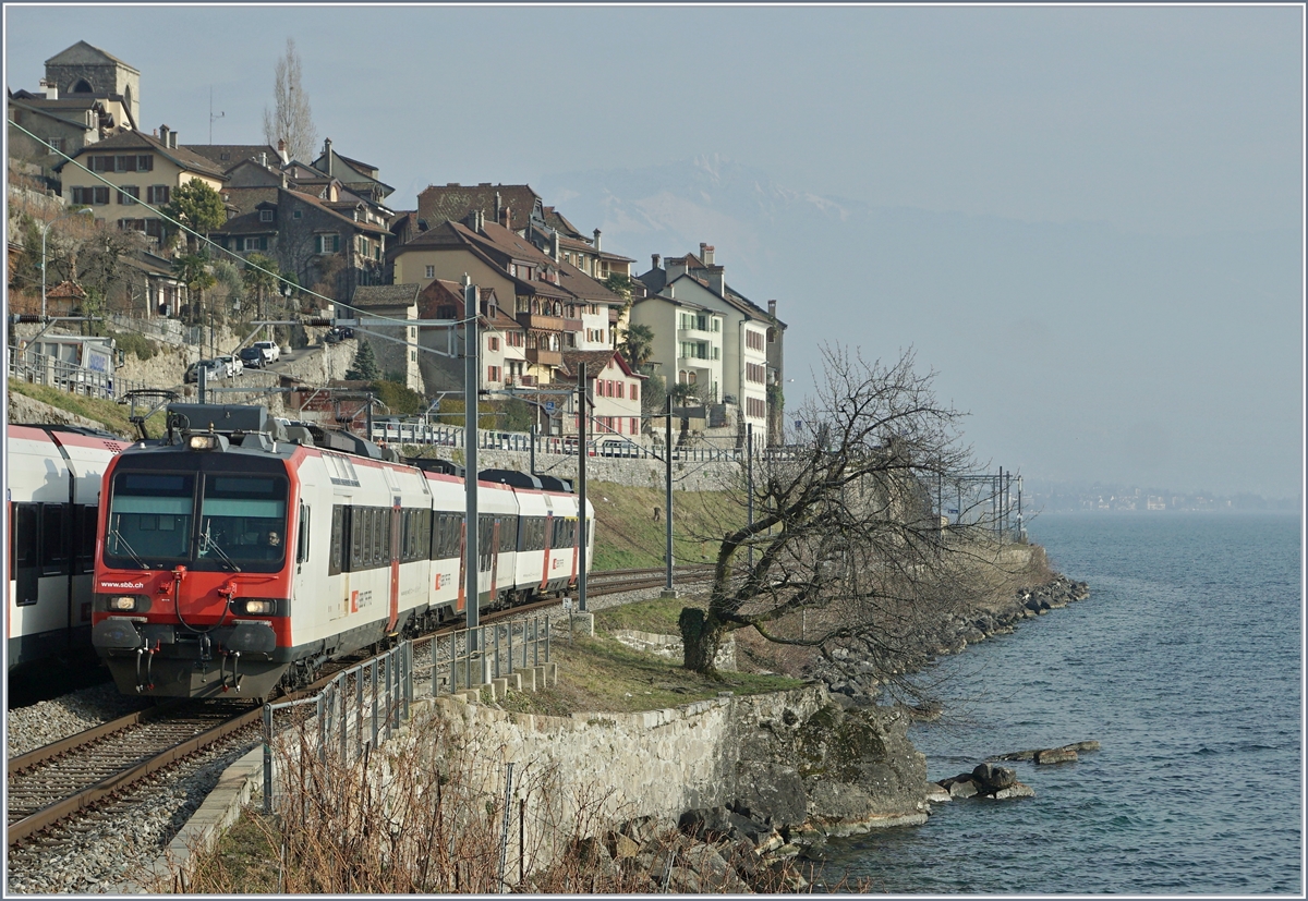
[[[271,694],[305,541],[284,456],[149,449],[105,480],[92,643],[119,690]]]

